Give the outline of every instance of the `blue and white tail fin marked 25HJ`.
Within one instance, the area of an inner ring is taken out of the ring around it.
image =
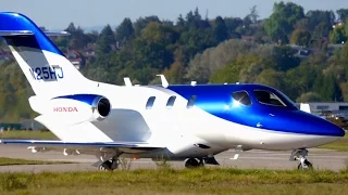
[[[89,81],[25,15],[1,12],[0,36],[37,95],[76,92]]]

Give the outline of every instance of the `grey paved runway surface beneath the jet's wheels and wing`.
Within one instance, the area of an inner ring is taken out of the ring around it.
[[[215,156],[221,164],[220,167],[234,168],[258,168],[258,169],[296,169],[298,162],[289,161],[290,151],[270,152],[252,150],[243,152],[237,160],[233,160],[234,151],[221,153]],[[23,166],[0,166],[0,172],[9,171],[88,171],[96,170],[91,164],[97,161],[95,156],[78,155],[64,156],[63,152],[48,152],[33,154],[24,146],[0,145],[0,157],[37,159],[37,160],[62,160],[74,164],[64,165],[23,165]],[[338,171],[348,166],[348,153],[331,150],[309,150],[309,158],[315,169],[328,169]],[[347,159],[347,162],[345,162]],[[184,161],[170,162],[173,168],[184,168]],[[130,169],[150,168],[156,169],[157,165],[151,159],[138,159],[130,162]]]

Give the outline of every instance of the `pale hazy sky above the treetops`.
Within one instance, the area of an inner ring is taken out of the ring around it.
[[[348,9],[348,0],[285,0],[308,10]],[[257,5],[261,18],[269,17],[278,0],[2,0],[0,11],[20,12],[47,29],[64,29],[73,22],[83,28],[119,25],[125,17],[133,22],[140,16],[157,15],[161,20],[176,21],[190,10],[199,9],[209,18],[245,17]]]

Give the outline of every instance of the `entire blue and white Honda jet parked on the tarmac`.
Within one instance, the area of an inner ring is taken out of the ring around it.
[[[293,150],[308,168],[308,147],[345,135],[334,123],[299,110],[276,89],[262,84],[113,86],[85,78],[28,17],[0,13],[0,36],[29,81],[32,108],[61,141],[1,140],[33,152],[91,154],[100,168],[120,156],[167,157],[187,167],[217,164],[235,148]]]

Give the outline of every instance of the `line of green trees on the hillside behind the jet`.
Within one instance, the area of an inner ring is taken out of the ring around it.
[[[124,84],[248,82],[264,83],[291,100],[348,100],[348,9],[311,10],[293,2],[276,2],[269,18],[257,6],[244,18],[202,16],[198,9],[176,21],[156,15],[132,22],[124,18],[112,29],[85,32],[73,23],[69,37],[52,39],[63,51],[83,56],[80,72],[88,78]],[[296,47],[294,47],[296,46]],[[92,48],[95,55],[84,52]],[[298,52],[308,52],[304,56]],[[33,93],[15,62],[1,64],[0,118],[18,120],[34,113]]]

